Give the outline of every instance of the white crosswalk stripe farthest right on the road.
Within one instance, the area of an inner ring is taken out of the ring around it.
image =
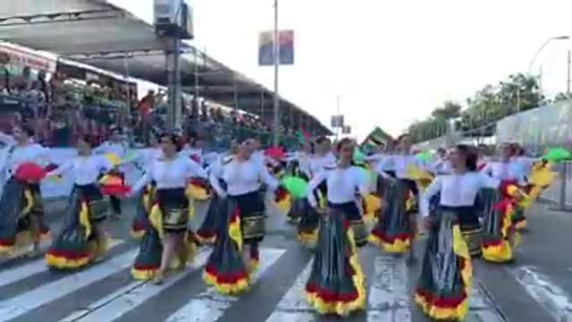
[[[568,292],[551,281],[535,267],[518,267],[511,270],[518,284],[528,292],[558,322],[572,321],[572,299]]]

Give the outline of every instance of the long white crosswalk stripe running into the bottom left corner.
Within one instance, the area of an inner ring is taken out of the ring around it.
[[[130,267],[138,251],[131,250],[121,256],[88,267],[86,270],[78,271],[53,283],[40,286],[30,292],[25,292],[6,301],[0,301],[0,322],[21,317],[32,309],[38,309],[42,305]]]

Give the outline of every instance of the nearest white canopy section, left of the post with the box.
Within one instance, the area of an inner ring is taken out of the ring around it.
[[[164,48],[152,26],[96,0],[4,0],[0,39],[60,55]]]

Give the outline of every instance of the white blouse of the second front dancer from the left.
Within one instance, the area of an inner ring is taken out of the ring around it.
[[[55,176],[72,171],[73,182],[78,185],[93,184],[97,182],[99,174],[106,173],[114,165],[105,156],[95,155],[89,157],[74,157],[72,160],[60,165],[47,176]]]

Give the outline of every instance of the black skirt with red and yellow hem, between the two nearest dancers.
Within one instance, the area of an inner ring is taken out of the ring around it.
[[[369,241],[391,253],[409,250],[415,231],[411,229],[413,191],[408,181],[384,179],[383,207]]]

